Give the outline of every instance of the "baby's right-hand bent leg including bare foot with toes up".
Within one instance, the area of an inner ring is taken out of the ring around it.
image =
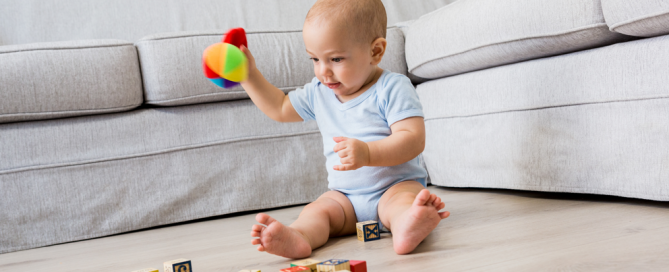
[[[379,217],[393,234],[397,254],[413,251],[449,212],[439,212],[441,198],[417,181],[403,181],[388,189],[379,201]]]

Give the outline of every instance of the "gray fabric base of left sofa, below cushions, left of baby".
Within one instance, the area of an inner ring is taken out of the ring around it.
[[[316,124],[250,100],[3,124],[0,138],[0,253],[327,191]]]

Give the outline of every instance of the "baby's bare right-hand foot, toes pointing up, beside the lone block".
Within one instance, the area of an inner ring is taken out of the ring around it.
[[[411,208],[395,218],[392,226],[393,247],[397,254],[408,254],[427,237],[439,221],[450,215],[439,212],[446,204],[427,189],[421,190]]]

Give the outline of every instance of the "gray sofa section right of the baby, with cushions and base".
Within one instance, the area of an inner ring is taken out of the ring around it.
[[[460,0],[422,16],[405,51],[433,79],[417,87],[432,183],[669,201],[666,34],[664,0]]]

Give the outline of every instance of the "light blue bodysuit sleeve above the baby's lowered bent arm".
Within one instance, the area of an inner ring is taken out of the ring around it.
[[[385,115],[388,126],[409,117],[424,117],[416,88],[408,77],[393,74],[384,81],[379,108]]]

